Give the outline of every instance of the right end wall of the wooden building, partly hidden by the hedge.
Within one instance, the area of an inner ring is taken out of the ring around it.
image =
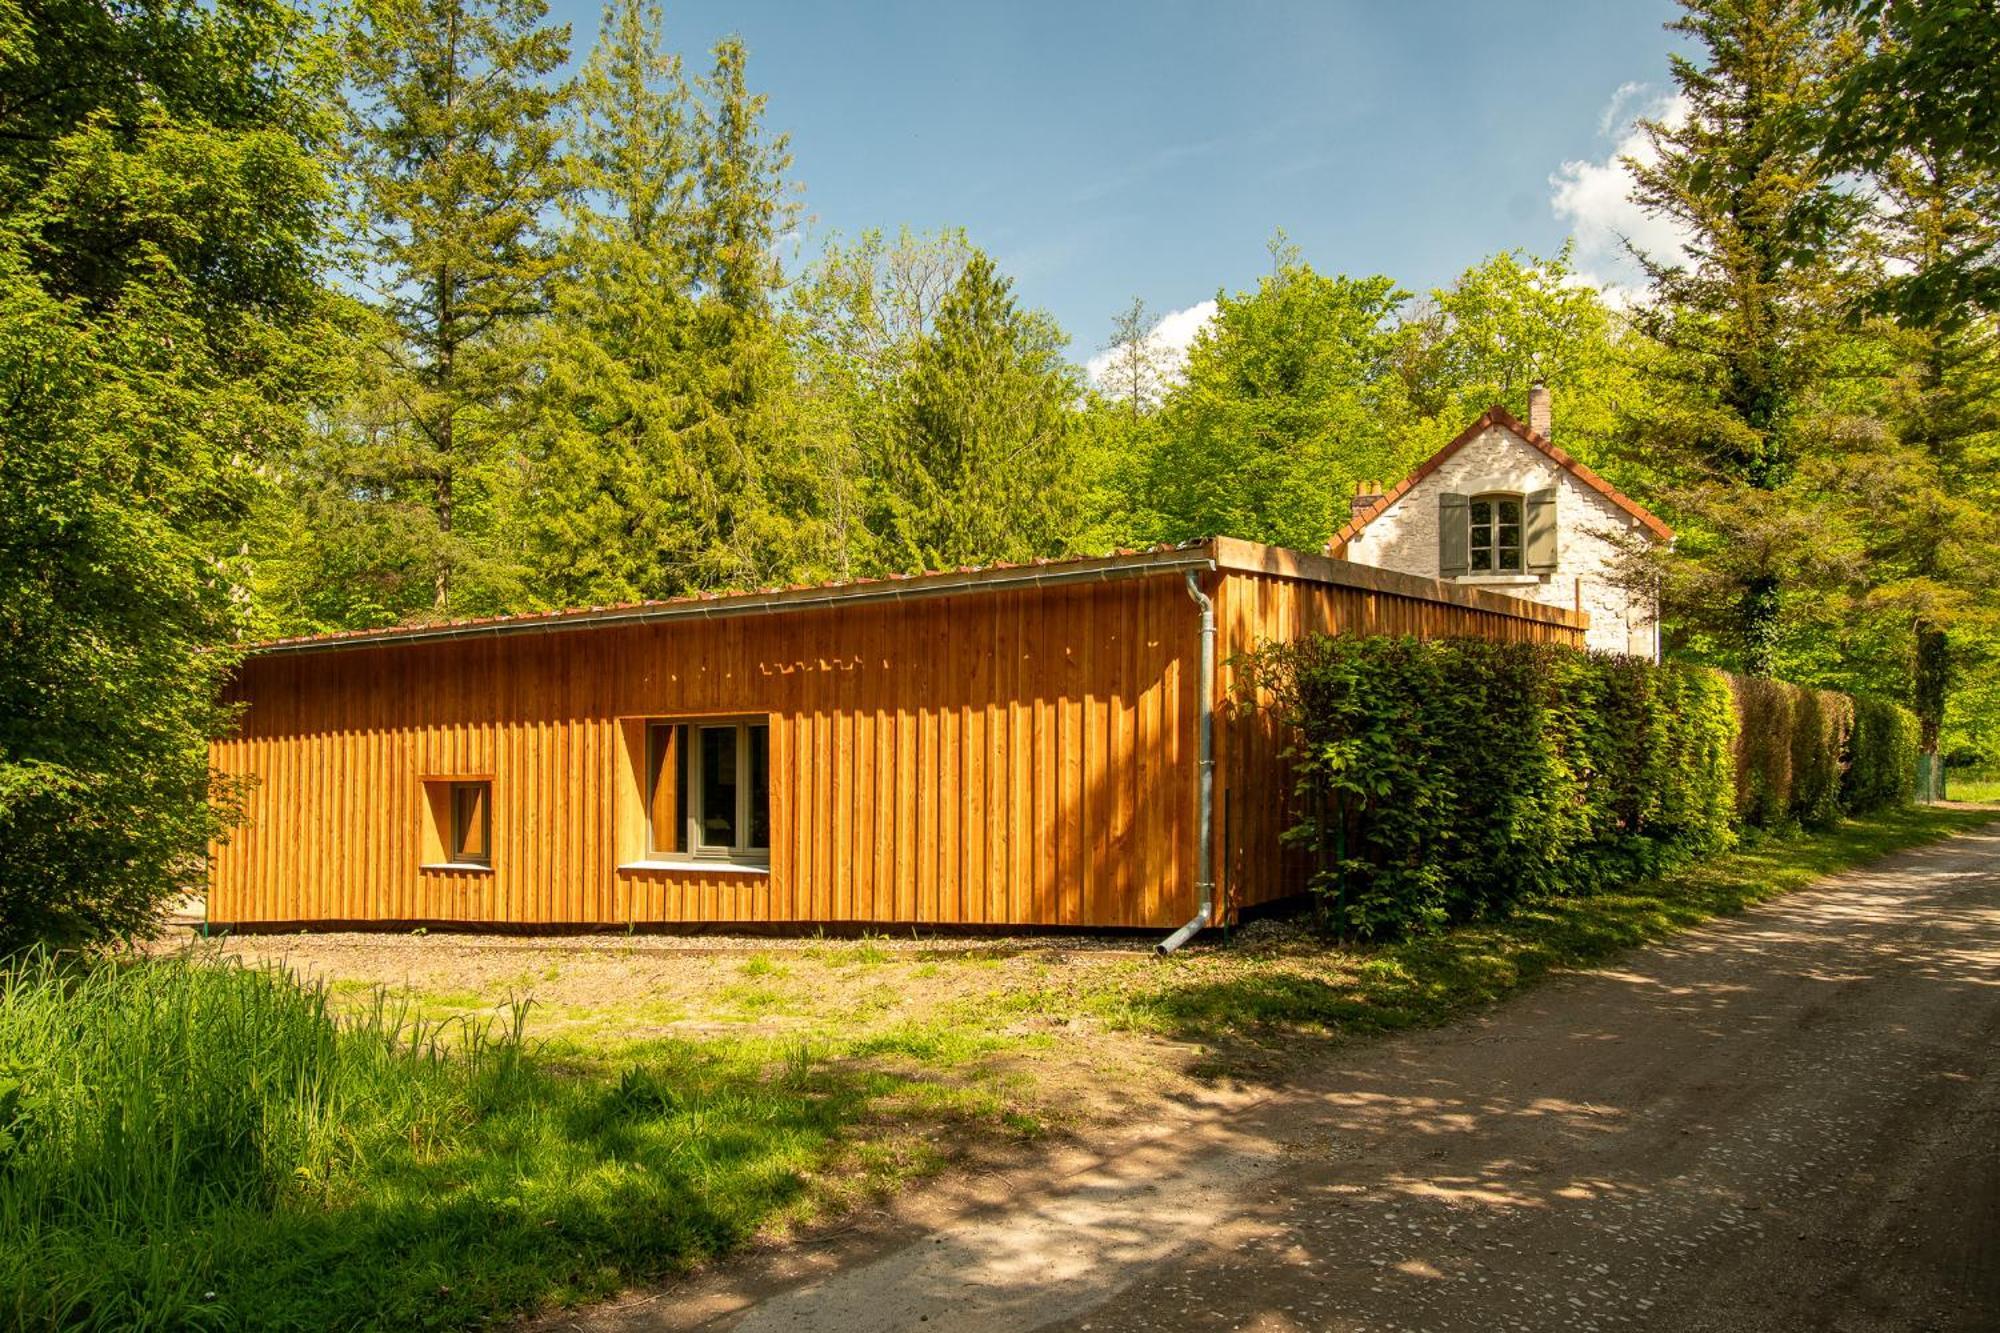
[[[1288,737],[1268,711],[1230,707],[1238,697],[1238,669],[1230,658],[1268,642],[1338,632],[1584,644],[1588,616],[1578,612],[1250,542],[1224,538],[1216,548],[1224,574],[1216,592],[1222,666],[1216,673],[1214,855],[1224,919],[1304,893],[1312,871],[1280,839],[1292,825]],[[1336,578],[1340,582],[1332,582]]]

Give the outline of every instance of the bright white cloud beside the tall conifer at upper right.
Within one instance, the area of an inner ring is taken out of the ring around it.
[[[1564,162],[1548,178],[1548,206],[1576,236],[1578,276],[1620,304],[1640,298],[1646,286],[1646,274],[1626,248],[1628,242],[1660,260],[1686,254],[1680,224],[1632,202],[1632,172],[1624,160],[1658,160],[1638,120],[1644,116],[1680,124],[1688,116],[1688,102],[1680,94],[1646,98],[1644,92],[1642,84],[1622,84],[1604,106],[1598,134],[1612,144],[1602,158]]]

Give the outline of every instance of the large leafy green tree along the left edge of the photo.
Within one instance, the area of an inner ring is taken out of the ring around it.
[[[330,70],[270,0],[0,0],[0,953],[148,929],[230,823],[230,536],[324,390]]]

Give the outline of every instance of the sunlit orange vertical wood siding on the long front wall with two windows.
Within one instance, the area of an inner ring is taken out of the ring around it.
[[[1178,925],[1196,648],[1166,574],[252,656],[210,919]],[[770,717],[770,871],[620,869],[632,721],[700,715]],[[450,777],[490,871],[422,869]]]

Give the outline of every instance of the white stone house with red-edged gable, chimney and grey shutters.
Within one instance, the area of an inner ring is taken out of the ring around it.
[[[1658,590],[1632,556],[1674,530],[1550,432],[1540,384],[1526,424],[1488,408],[1396,486],[1362,482],[1328,554],[1584,610],[1588,646],[1658,660]]]

